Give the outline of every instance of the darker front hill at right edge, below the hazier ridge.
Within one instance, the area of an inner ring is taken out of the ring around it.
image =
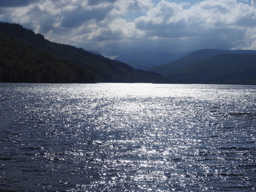
[[[197,61],[172,74],[197,83],[256,84],[256,54],[221,54]]]

